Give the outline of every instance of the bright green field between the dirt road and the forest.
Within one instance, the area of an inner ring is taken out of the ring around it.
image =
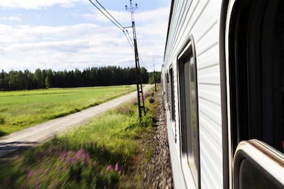
[[[79,112],[134,90],[132,85],[0,92],[0,136]]]

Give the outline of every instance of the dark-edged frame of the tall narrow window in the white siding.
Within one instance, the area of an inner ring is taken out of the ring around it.
[[[192,60],[192,62],[191,62]],[[191,64],[192,63],[192,64]],[[189,64],[189,72],[185,74],[185,64]],[[193,66],[193,74],[195,80],[195,97],[192,98],[191,88],[191,66]],[[182,46],[177,57],[177,73],[178,73],[178,105],[179,105],[179,126],[180,126],[180,160],[185,180],[193,182],[196,188],[200,188],[200,142],[199,142],[199,116],[198,116],[198,77],[196,68],[196,50],[193,36]],[[189,79],[189,81],[186,81]],[[185,82],[189,83],[189,88],[185,87]],[[186,98],[189,95],[189,98]],[[193,137],[193,119],[191,101],[195,101],[196,108],[196,136]],[[185,102],[189,104],[186,104]],[[189,147],[191,145],[191,147]],[[195,148],[194,148],[195,145]],[[196,153],[194,153],[196,152]],[[191,177],[189,176],[191,175]],[[192,178],[189,179],[189,178]]]

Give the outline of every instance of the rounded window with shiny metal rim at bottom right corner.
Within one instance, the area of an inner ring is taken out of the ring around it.
[[[283,155],[259,140],[241,142],[235,153],[234,188],[283,188]]]

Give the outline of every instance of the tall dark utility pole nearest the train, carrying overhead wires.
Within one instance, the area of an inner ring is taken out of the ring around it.
[[[145,112],[145,103],[143,97],[143,88],[142,88],[142,78],[141,78],[141,71],[139,65],[139,55],[137,50],[137,37],[136,37],[136,30],[135,30],[135,23],[134,23],[134,11],[137,9],[137,3],[135,7],[132,5],[132,0],[130,0],[130,8],[126,5],[126,10],[131,12],[131,21],[132,21],[132,31],[133,31],[133,40],[134,40],[134,52],[135,52],[135,68],[136,68],[136,84],[137,84],[137,100],[138,100],[138,110],[139,110],[139,118],[142,117],[142,110],[144,112],[144,116],[146,115]]]

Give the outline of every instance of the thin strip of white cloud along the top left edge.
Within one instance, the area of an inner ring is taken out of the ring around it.
[[[0,7],[3,8],[24,8],[39,9],[47,8],[53,5],[62,5],[64,7],[73,7],[74,3],[83,3],[84,0],[2,0]]]

